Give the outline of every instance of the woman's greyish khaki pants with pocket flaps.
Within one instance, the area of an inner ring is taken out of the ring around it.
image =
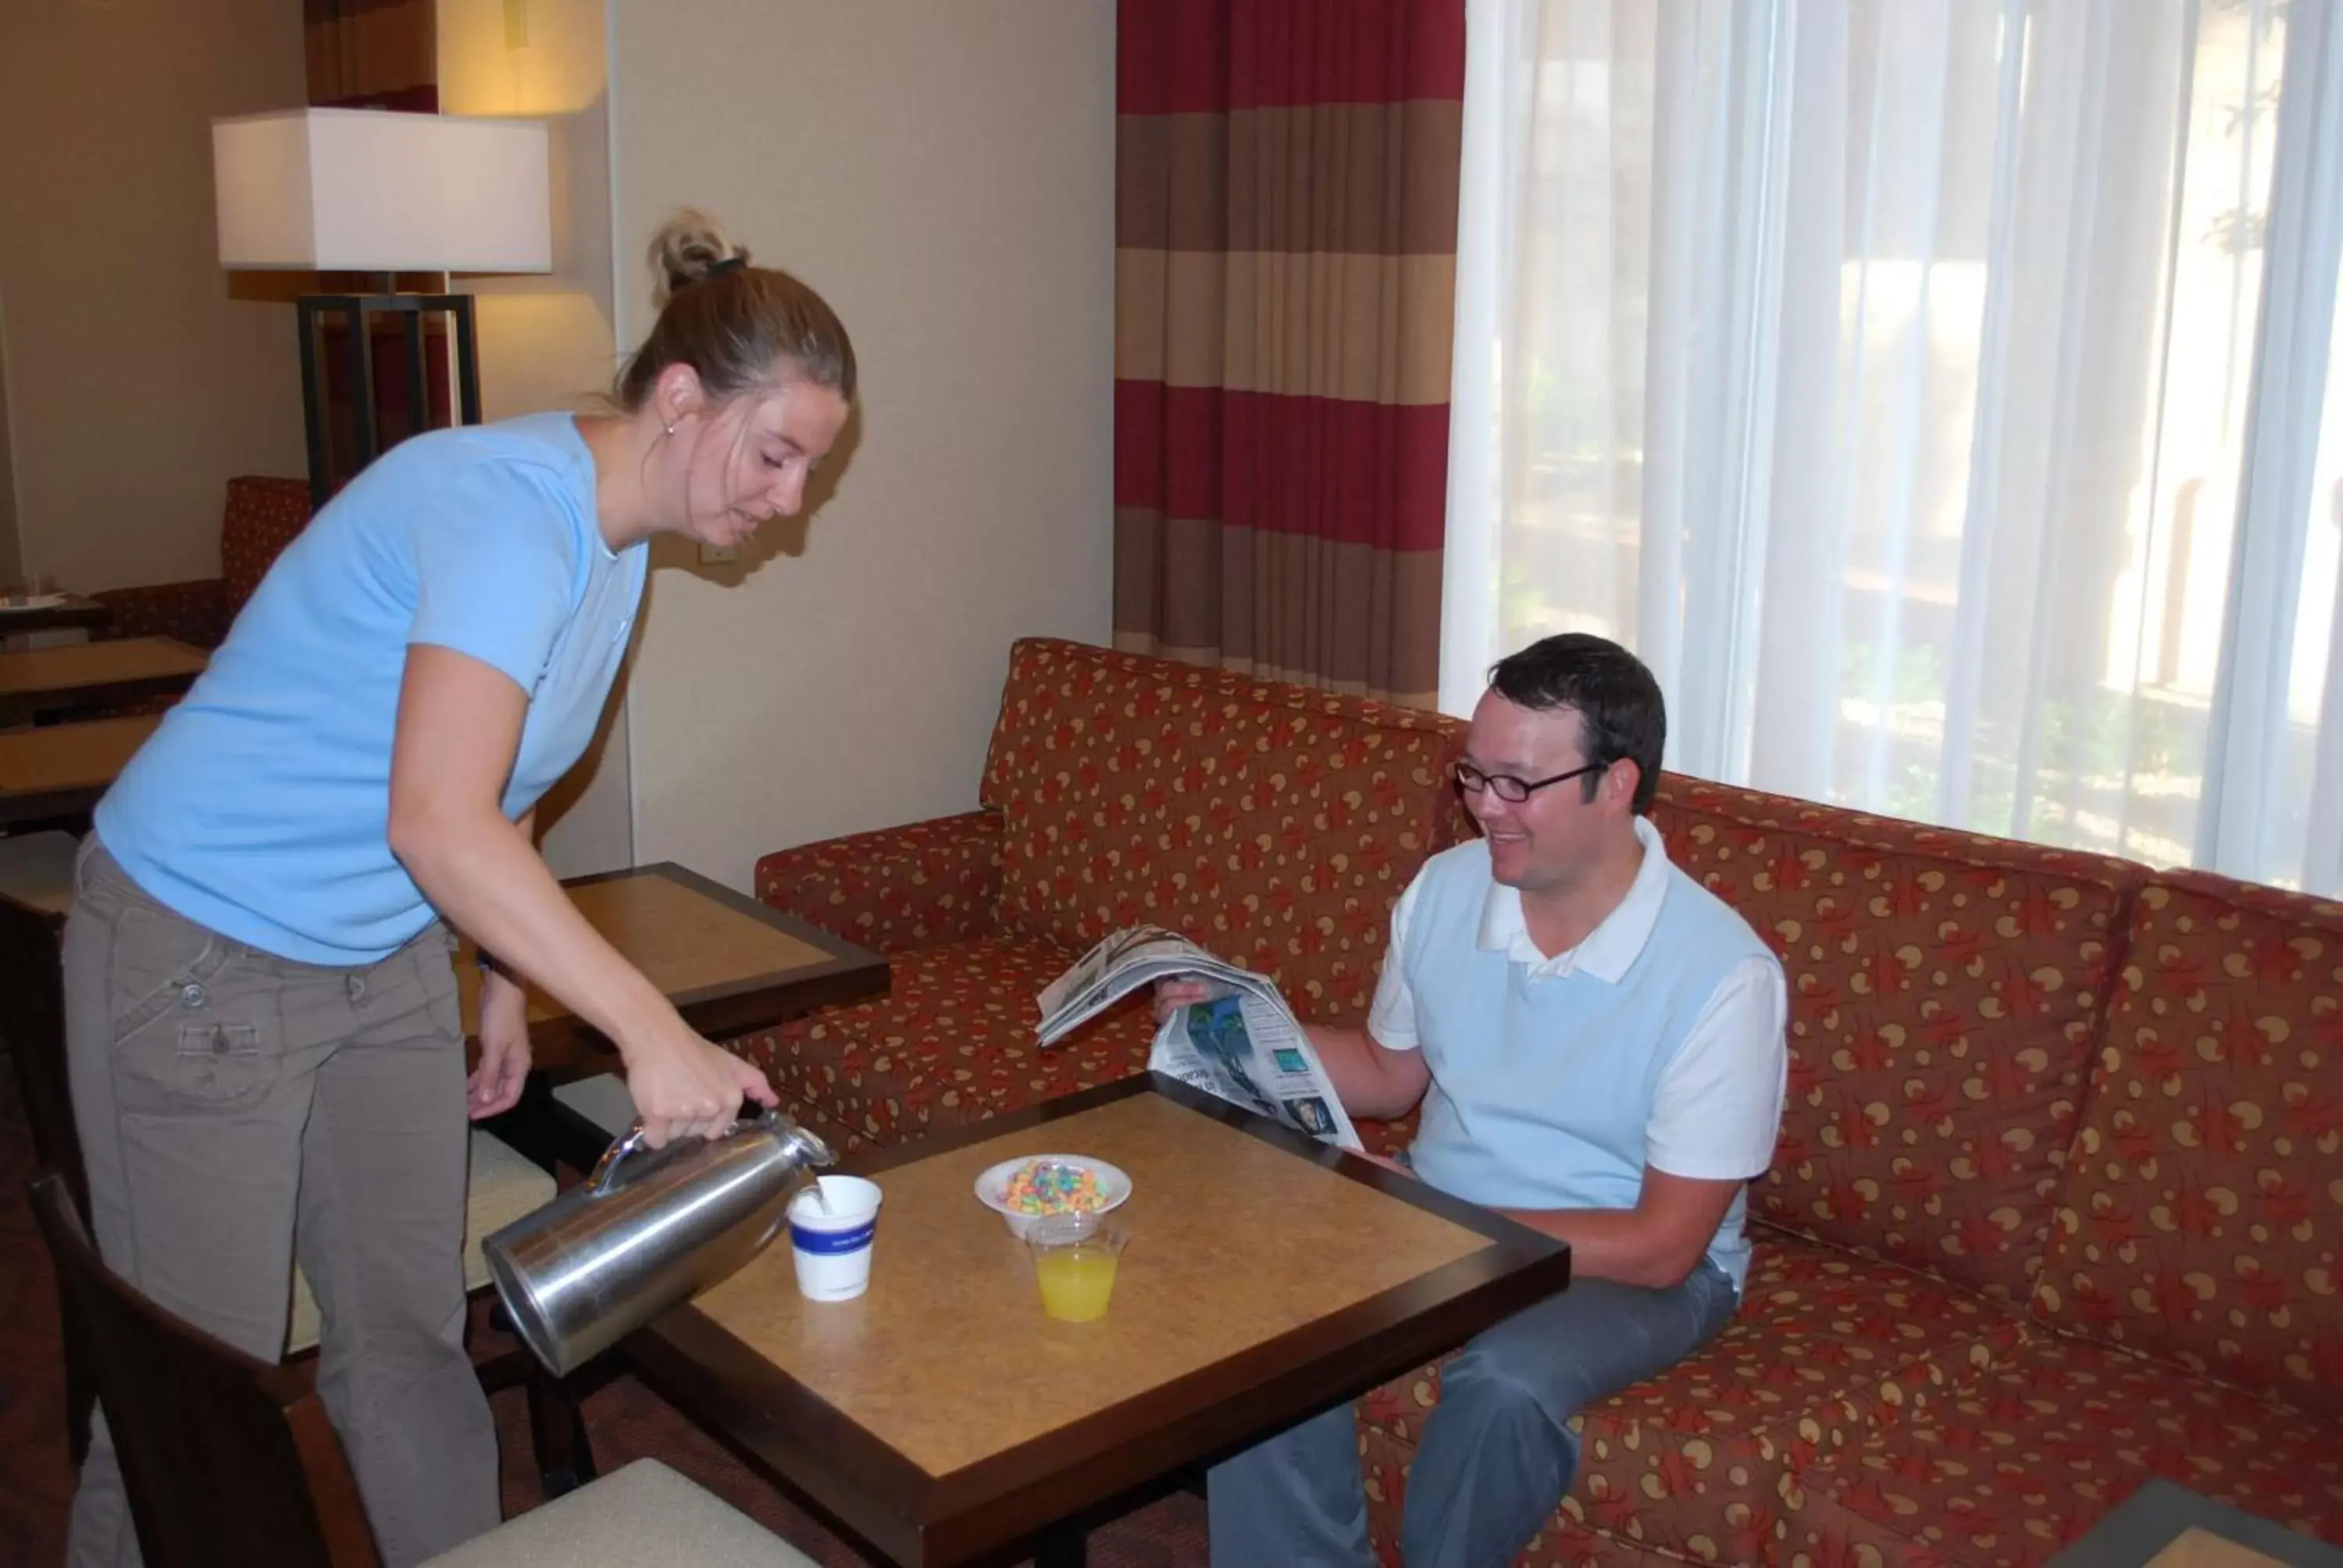
[[[323,1315],[319,1392],[389,1568],[497,1526],[497,1434],[464,1352],[464,1029],[438,926],[368,968],[194,926],[82,848],[66,923],[73,1120],[105,1261],[152,1301],[284,1357],[293,1259]],[[138,1563],[91,1432],[73,1568]]]

